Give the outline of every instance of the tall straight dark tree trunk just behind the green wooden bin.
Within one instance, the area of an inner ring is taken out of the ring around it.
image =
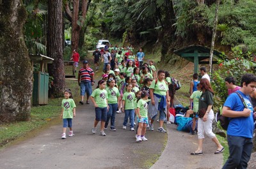
[[[48,3],[47,55],[54,59],[49,64],[49,75],[54,78],[50,96],[61,97],[65,86],[62,0],[49,0]]]

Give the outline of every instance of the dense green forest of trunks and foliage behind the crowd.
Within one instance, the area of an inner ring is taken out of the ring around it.
[[[173,51],[189,45],[211,47],[216,7],[215,49],[226,58],[212,74],[218,107],[227,98],[223,78],[232,75],[239,82],[244,73],[255,73],[254,0],[1,0],[1,123],[31,118],[29,54],[54,58],[48,68],[52,98],[62,97],[66,86],[63,61],[70,60],[74,49],[82,59],[87,57],[99,39],[132,45],[135,51],[143,47],[166,71],[182,71],[189,62]],[[193,72],[185,74],[191,77]]]

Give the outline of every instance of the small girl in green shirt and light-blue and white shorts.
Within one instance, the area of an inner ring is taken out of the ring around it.
[[[136,142],[147,141],[148,139],[145,137],[146,128],[148,124],[148,92],[142,91],[141,98],[138,98],[137,101],[137,122],[138,122],[138,131]]]

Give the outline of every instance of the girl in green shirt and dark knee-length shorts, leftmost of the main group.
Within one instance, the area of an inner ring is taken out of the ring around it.
[[[95,106],[95,121],[92,128],[92,133],[96,133],[97,124],[100,122],[100,135],[106,136],[104,132],[105,122],[107,120],[107,112],[108,112],[108,92],[105,90],[106,81],[100,80],[98,82],[97,89],[92,92],[90,98],[92,99],[92,103]]]

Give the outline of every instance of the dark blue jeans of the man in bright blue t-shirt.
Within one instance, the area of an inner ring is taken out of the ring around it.
[[[252,138],[242,136],[227,136],[229,157],[223,169],[227,168],[247,168],[247,163],[252,154]]]

